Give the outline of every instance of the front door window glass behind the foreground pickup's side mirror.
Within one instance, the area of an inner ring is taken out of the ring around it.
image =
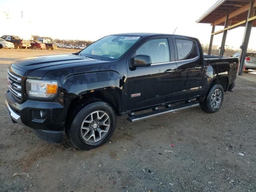
[[[138,48],[136,55],[150,56],[152,64],[170,62],[168,40],[166,38],[149,40]]]

